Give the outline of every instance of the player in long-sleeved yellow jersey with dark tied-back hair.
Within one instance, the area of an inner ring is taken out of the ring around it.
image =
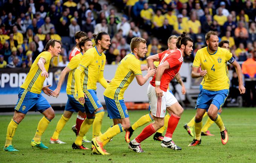
[[[85,108],[87,118],[81,125],[80,132],[72,145],[73,149],[81,149],[82,139],[90,129],[91,124],[93,124],[93,138],[99,136],[104,117],[104,108],[96,95],[96,83],[99,81],[104,88],[108,86],[103,76],[106,62],[106,56],[103,51],[109,49],[111,43],[110,36],[103,31],[93,34],[93,37],[95,38],[96,46],[85,52],[75,71],[75,84],[79,102],[85,103],[88,109]],[[84,74],[83,78],[81,74]]]

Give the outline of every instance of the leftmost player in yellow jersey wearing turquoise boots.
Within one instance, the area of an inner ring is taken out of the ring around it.
[[[37,126],[37,131],[30,145],[40,149],[48,149],[42,141],[41,136],[46,130],[50,121],[54,118],[54,111],[49,102],[42,96],[41,91],[48,96],[52,96],[53,91],[50,85],[43,86],[44,79],[48,78],[48,69],[52,57],[58,57],[61,52],[61,42],[59,40],[49,40],[46,43],[45,51],[41,52],[32,64],[29,73],[18,91],[18,102],[14,108],[14,116],[7,127],[5,151],[18,151],[12,146],[12,138],[18,124],[23,120],[31,108],[41,112],[44,117]]]

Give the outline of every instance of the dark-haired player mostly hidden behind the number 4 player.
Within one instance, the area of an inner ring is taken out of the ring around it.
[[[221,48],[225,48],[227,50],[229,50],[229,41],[227,40],[221,40],[221,42],[219,42],[219,47]],[[203,88],[202,86],[203,81],[200,84],[200,91]],[[222,112],[222,108],[219,108],[218,114],[221,114]],[[203,118],[207,115],[207,113],[204,113]],[[202,130],[201,130],[201,136],[214,136],[213,134],[210,133],[210,131],[208,130],[209,127],[213,124],[214,122],[211,120],[210,117],[207,118],[206,123],[204,124]],[[189,121],[189,123],[186,123],[183,127],[185,130],[187,130],[187,133],[194,137],[194,133],[193,133],[193,126],[195,125],[195,116]]]

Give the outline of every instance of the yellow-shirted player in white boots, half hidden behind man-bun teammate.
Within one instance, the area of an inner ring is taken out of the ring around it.
[[[72,116],[73,112],[81,111],[82,113],[85,112],[84,105],[79,102],[78,96],[77,96],[77,89],[75,85],[75,77],[74,73],[76,70],[76,67],[78,67],[78,64],[81,61],[82,56],[84,53],[93,47],[93,43],[88,37],[84,37],[78,44],[79,49],[81,49],[81,52],[77,55],[75,55],[72,60],[69,62],[69,64],[62,70],[61,75],[59,76],[59,82],[57,85],[57,88],[53,91],[53,96],[58,97],[59,92],[61,90],[61,85],[65,80],[65,76],[67,73],[69,73],[69,77],[67,79],[67,104],[65,107],[65,111],[63,115],[61,116],[61,119],[58,121],[55,132],[53,133],[52,137],[50,138],[50,144],[66,144],[65,142],[62,142],[59,140],[59,133],[63,129],[63,127],[66,125],[69,118]],[[82,74],[82,78],[84,77],[84,74]],[[85,105],[85,107],[87,107]],[[84,113],[85,114],[85,113]],[[83,146],[81,146],[84,148]]]

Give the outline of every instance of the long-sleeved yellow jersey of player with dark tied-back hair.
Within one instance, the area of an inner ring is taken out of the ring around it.
[[[72,58],[73,59],[73,58]],[[77,70],[84,73],[84,78],[81,78],[81,86],[78,87],[78,98],[83,97],[82,91],[96,90],[96,83],[101,71],[104,71],[106,63],[106,56],[102,52],[99,54],[97,47],[88,49],[81,58]],[[77,82],[77,81],[76,81]]]

